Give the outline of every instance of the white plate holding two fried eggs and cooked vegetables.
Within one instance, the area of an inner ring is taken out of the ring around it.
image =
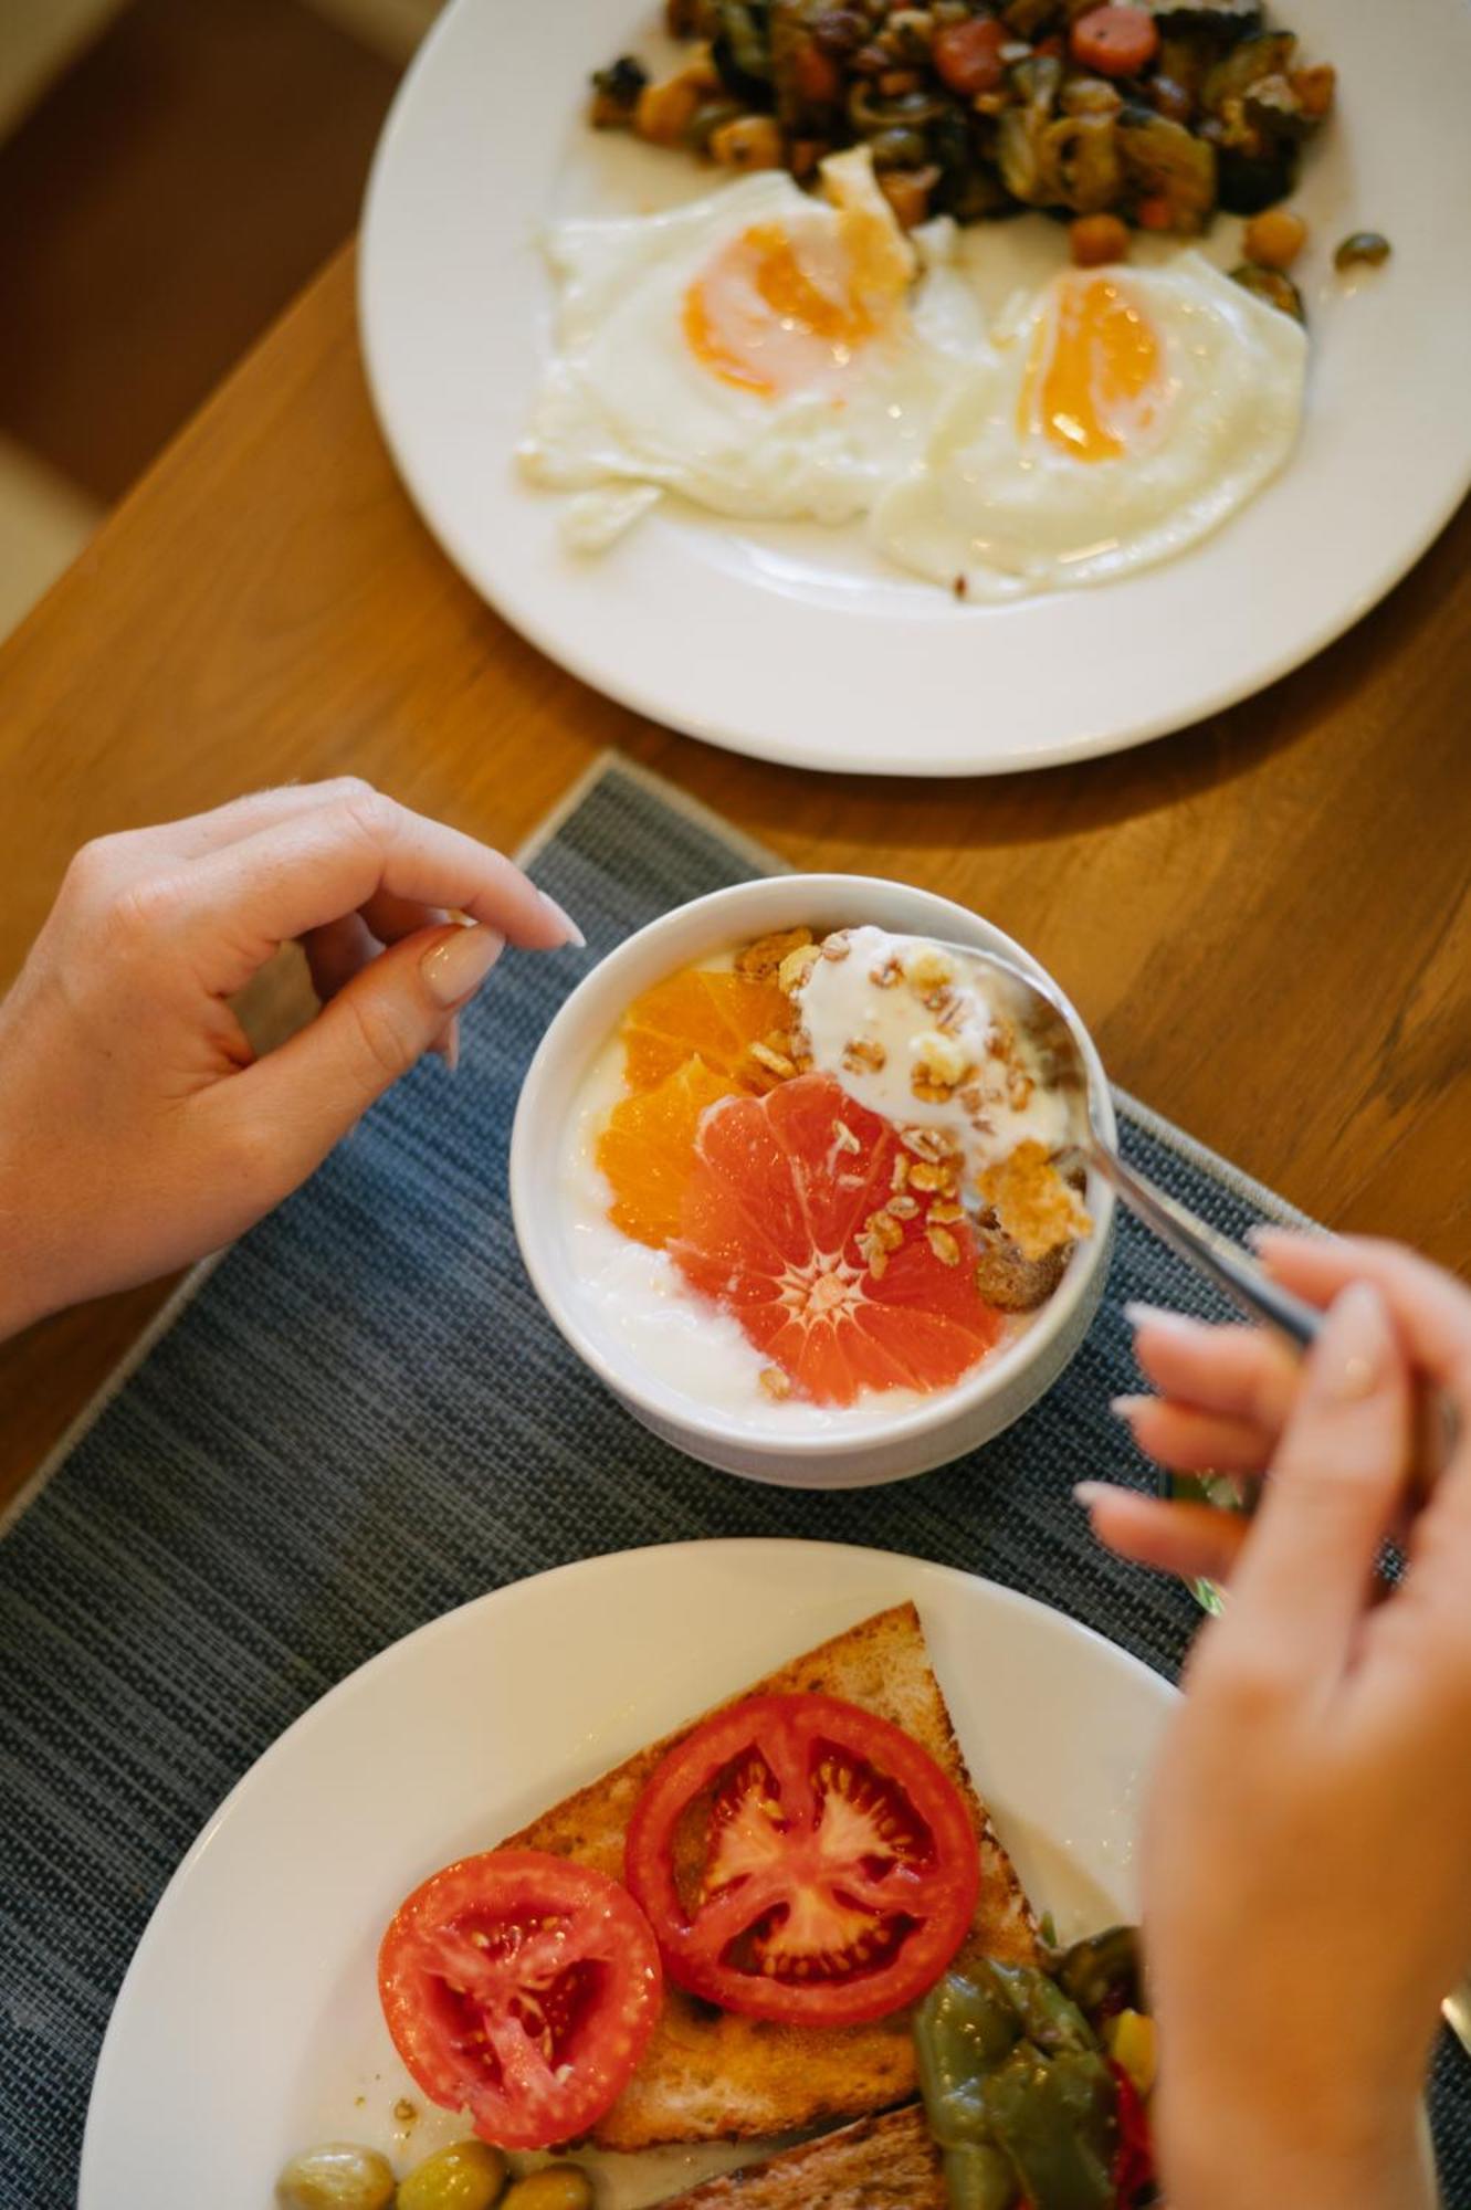
[[[998,774],[1135,745],[1285,674],[1374,606],[1471,480],[1471,9],[1281,0],[1341,110],[1305,164],[1312,323],[1288,471],[1184,559],[1098,590],[959,606],[853,530],[674,502],[599,559],[512,462],[550,345],[548,214],[667,206],[713,175],[583,124],[588,73],[649,51],[652,0],[453,0],[389,117],[362,234],[378,413],[428,526],[532,643],[612,698],[806,767]],[[1383,230],[1394,259],[1334,276]],[[1208,250],[1230,265],[1241,225]],[[983,225],[992,298],[1060,263],[1045,217]]]

